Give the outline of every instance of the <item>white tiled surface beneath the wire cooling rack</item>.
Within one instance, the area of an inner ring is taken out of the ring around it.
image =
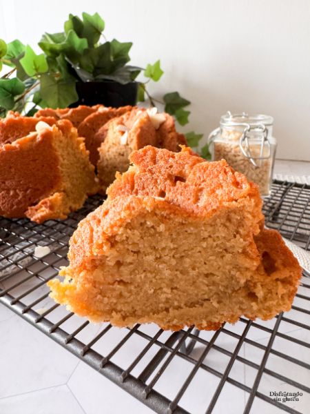
[[[275,173],[310,176],[310,163],[277,161]],[[49,300],[47,299],[44,304],[38,304],[37,307],[46,306]],[[300,300],[302,299],[297,299],[297,306],[300,304],[298,303]],[[303,304],[303,306],[307,306],[307,304]],[[61,308],[55,311],[54,317],[58,318],[59,313],[61,313]],[[291,317],[299,322],[309,324],[309,315],[307,314],[291,311]],[[74,322],[74,318],[70,318],[69,321],[65,326],[68,331],[73,330],[74,323],[77,323],[78,320],[75,319]],[[273,319],[269,322],[259,322],[259,324],[272,328],[275,321],[276,319]],[[85,333],[81,334],[81,340],[83,340],[83,335],[90,333],[95,335],[100,328],[99,325],[87,326]],[[242,322],[229,327],[231,331],[239,334],[244,328],[245,324]],[[152,326],[143,329],[152,331]],[[286,322],[281,322],[279,331],[310,342],[309,331],[302,328],[296,329],[296,326]],[[96,348],[98,351],[106,353],[107,346],[112,347],[117,337],[122,335],[123,331],[114,329],[110,339],[107,341],[105,338],[104,342],[99,341]],[[207,339],[212,334],[204,332],[201,335]],[[266,345],[267,335],[264,335],[263,331],[259,329],[251,328],[247,336],[258,344]],[[0,338],[0,414],[146,414],[152,412],[3,305],[0,305]],[[116,363],[122,366],[126,364],[128,355],[136,355],[141,344],[135,341],[136,339],[132,339],[126,351],[115,357]],[[228,335],[220,335],[216,345],[233,352],[236,339]],[[285,339],[277,337],[273,348],[292,356],[304,357],[305,360],[310,361],[309,349],[298,347]],[[200,353],[201,348],[197,347],[193,355],[199,357]],[[240,348],[238,355],[260,364],[262,351],[245,344]],[[227,366],[227,358],[223,353],[212,350],[207,355],[205,362],[211,368],[223,372]],[[183,359],[173,360],[167,373],[156,384],[156,390],[165,391],[166,395],[169,393],[173,395],[191,368],[192,365]],[[269,357],[267,368],[284,375],[289,372],[292,379],[302,384],[310,383],[309,371],[304,368],[300,368],[298,372],[293,371],[291,363],[285,362],[283,364],[283,359],[279,359],[275,355]],[[229,376],[251,386],[256,373],[254,368],[236,361]],[[187,388],[180,404],[191,413],[202,413],[218,382],[219,379],[207,371],[198,371],[198,375],[194,377],[192,384]],[[293,386],[283,384],[280,380],[264,374],[264,382],[262,382],[259,391],[268,394],[271,390],[291,391],[293,389]],[[310,400],[306,394],[304,393],[300,402],[288,402],[287,406],[295,408],[300,413],[307,413]],[[227,404],[229,404],[229,411],[227,411]],[[236,386],[225,384],[225,391],[221,393],[213,413],[242,413],[245,404],[246,393]],[[278,408],[259,399],[255,400],[251,410],[251,413],[254,414],[280,412]]]

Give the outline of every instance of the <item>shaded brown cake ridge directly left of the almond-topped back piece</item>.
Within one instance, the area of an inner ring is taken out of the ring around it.
[[[86,117],[79,125],[79,136],[85,138],[86,148],[90,151],[90,161],[94,166],[96,166],[98,161],[98,148],[102,142],[100,136],[97,136],[96,139],[94,138],[96,132],[110,119],[119,117],[130,110],[132,110],[132,106],[121,106],[120,108],[106,108],[102,106],[96,112]]]

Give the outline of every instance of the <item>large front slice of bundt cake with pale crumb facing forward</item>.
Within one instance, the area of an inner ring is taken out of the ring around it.
[[[218,329],[289,311],[300,266],[264,229],[258,187],[226,161],[147,146],[70,240],[51,296],[116,326]]]

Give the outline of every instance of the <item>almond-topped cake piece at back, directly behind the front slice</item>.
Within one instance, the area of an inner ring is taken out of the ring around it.
[[[176,132],[174,119],[156,112],[156,108],[136,108],[107,122],[97,132],[95,139],[100,135],[102,141],[97,172],[103,191],[114,181],[116,172],[128,169],[132,151],[152,145],[178,152],[180,144],[186,143],[184,135]]]

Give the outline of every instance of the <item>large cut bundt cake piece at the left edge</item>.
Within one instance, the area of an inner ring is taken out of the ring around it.
[[[54,121],[39,121],[36,132],[0,145],[0,215],[65,219],[98,190],[84,139],[70,121]]]

